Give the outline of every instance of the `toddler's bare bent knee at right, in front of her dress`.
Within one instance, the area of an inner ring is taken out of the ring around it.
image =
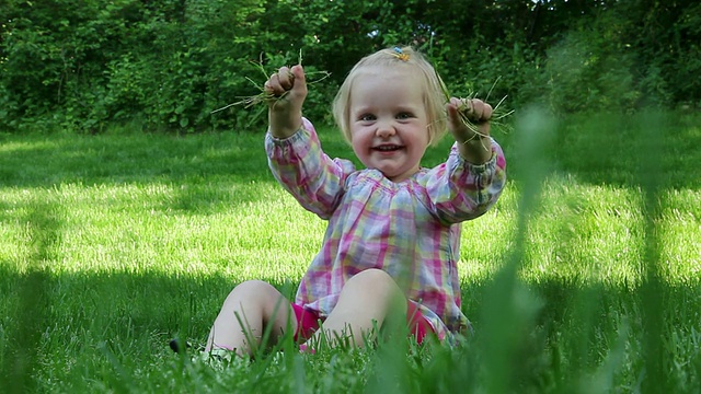
[[[365,335],[379,328],[388,317],[406,314],[406,298],[394,279],[381,269],[367,269],[350,278],[338,298],[336,306],[309,340],[317,344],[321,335],[331,340],[348,337],[361,347]],[[374,333],[377,335],[377,333]]]

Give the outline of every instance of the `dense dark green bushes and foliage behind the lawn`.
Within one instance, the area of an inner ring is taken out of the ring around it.
[[[298,61],[331,72],[308,115],[330,119],[349,68],[410,44],[455,95],[554,111],[698,105],[701,4],[602,0],[4,0],[0,127],[244,130],[233,106]]]

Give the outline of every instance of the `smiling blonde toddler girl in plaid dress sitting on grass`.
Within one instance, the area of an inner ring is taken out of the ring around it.
[[[265,90],[275,96],[265,137],[273,175],[329,224],[294,302],[264,281],[237,286],[206,350],[250,355],[266,328],[271,340],[292,331],[302,349],[320,337],[363,346],[398,313],[418,343],[464,332],[460,222],[490,209],[506,179],[504,154],[490,137],[492,107],[480,100],[446,103],[440,78],[411,47],[379,50],[353,68],[333,103],[366,167],[356,169],[324,154],[302,117],[301,66],[280,68]],[[446,130],[456,140],[448,160],[422,167],[426,148]]]

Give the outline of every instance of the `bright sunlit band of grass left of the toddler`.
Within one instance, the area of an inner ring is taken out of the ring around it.
[[[151,271],[298,280],[319,247],[324,222],[277,186],[227,188],[216,207],[199,204],[198,195],[183,197],[180,186],[159,183],[5,190],[5,215],[19,219],[0,228],[0,257],[28,264],[32,233],[21,218],[34,199],[60,207],[57,259],[48,265],[56,274]],[[251,200],[252,192],[257,200]],[[204,198],[211,202],[212,197]]]

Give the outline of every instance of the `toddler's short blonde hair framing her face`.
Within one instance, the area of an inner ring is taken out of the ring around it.
[[[428,60],[412,47],[401,47],[401,51],[387,48],[366,56],[358,61],[341,85],[333,101],[333,117],[343,136],[350,142],[350,89],[363,68],[366,67],[411,67],[418,72],[424,92],[424,105],[428,116],[428,143],[434,144],[447,131],[445,84]]]

